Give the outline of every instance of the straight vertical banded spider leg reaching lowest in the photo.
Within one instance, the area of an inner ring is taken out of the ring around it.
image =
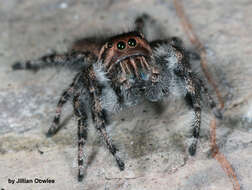
[[[73,99],[74,113],[78,117],[78,180],[82,181],[84,177],[84,145],[87,141],[88,125],[87,125],[87,114],[82,109],[79,102],[79,94]]]

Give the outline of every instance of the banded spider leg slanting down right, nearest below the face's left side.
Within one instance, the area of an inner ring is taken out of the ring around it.
[[[118,149],[112,143],[111,139],[109,138],[109,134],[106,130],[107,117],[106,117],[105,110],[102,109],[101,102],[100,102],[101,90],[96,85],[91,85],[91,86],[93,86],[91,87],[93,91],[91,92],[92,98],[93,98],[92,117],[96,125],[96,129],[99,131],[100,135],[102,136],[110,153],[116,159],[119,169],[124,170],[124,162],[116,154]]]

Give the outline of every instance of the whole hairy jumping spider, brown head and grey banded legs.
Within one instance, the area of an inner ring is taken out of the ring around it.
[[[154,19],[143,14],[136,18],[135,29],[131,32],[108,39],[86,38],[75,43],[71,52],[52,53],[12,65],[14,70],[37,71],[50,66],[66,66],[78,71],[58,101],[47,135],[54,135],[59,130],[62,107],[71,99],[78,121],[79,181],[84,176],[83,148],[87,141],[89,117],[92,117],[119,169],[124,170],[124,162],[117,155],[118,149],[106,130],[108,114],[140,104],[143,100],[161,101],[176,88],[180,89],[179,95],[194,111],[193,141],[188,149],[189,154],[194,155],[200,132],[202,92],[211,108],[216,110],[204,83],[191,70],[191,52],[183,48],[177,37],[148,42],[144,38],[148,31],[147,22],[154,22]],[[220,113],[216,115],[220,116]]]

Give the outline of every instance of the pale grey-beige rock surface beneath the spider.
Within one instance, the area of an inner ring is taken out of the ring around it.
[[[217,142],[244,190],[252,186],[252,3],[250,0],[182,1],[186,15],[207,48],[210,73],[225,99]],[[163,25],[167,36],[186,37],[173,1],[8,0],[0,4],[0,188],[102,190],[230,190],[232,183],[210,156],[209,121],[203,115],[195,157],[187,155],[192,112],[181,100],[146,103],[115,116],[110,134],[126,170],[120,172],[91,125],[85,146],[83,182],[77,181],[76,121],[71,105],[65,125],[45,133],[61,91],[73,73],[45,69],[12,71],[15,61],[39,57],[92,34],[125,31],[141,13]],[[153,36],[149,36],[152,38]],[[197,65],[197,63],[195,63]],[[196,68],[197,72],[201,72]],[[211,88],[211,87],[210,87]],[[213,96],[214,93],[212,91]],[[9,179],[52,179],[55,183],[10,184]]]

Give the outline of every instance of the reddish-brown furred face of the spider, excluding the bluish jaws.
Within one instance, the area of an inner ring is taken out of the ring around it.
[[[102,46],[99,60],[103,60],[108,72],[120,65],[122,74],[134,74],[139,78],[139,69],[150,70],[147,60],[150,60],[151,56],[152,49],[143,35],[139,32],[129,32],[110,38]]]

